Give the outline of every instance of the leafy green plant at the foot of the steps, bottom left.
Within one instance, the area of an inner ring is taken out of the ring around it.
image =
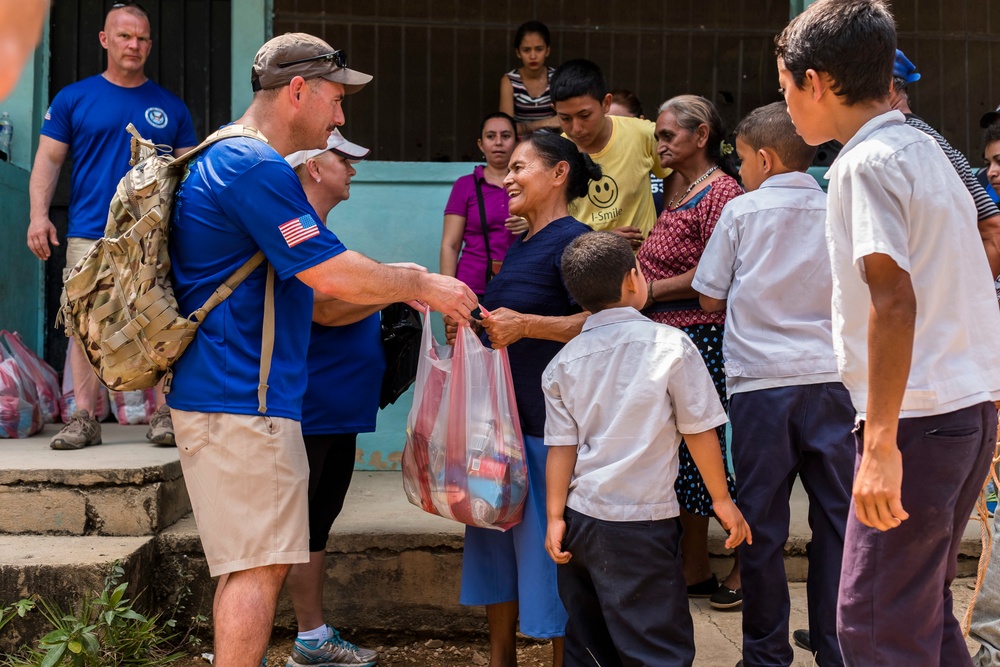
[[[100,594],[86,596],[78,612],[38,598],[39,612],[53,630],[7,661],[11,667],[154,667],[182,657],[161,614],[145,616],[125,597],[125,571],[112,565]],[[23,601],[22,601],[23,602]],[[23,614],[22,614],[23,615]],[[2,618],[2,617],[0,617]]]

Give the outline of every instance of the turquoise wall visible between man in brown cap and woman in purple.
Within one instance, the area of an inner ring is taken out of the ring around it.
[[[350,121],[345,134],[350,137]],[[344,244],[380,262],[417,262],[438,270],[444,206],[459,176],[472,163],[366,161],[357,165],[351,198],[330,213],[327,224]],[[434,326],[444,340],[440,316]],[[398,470],[406,440],[412,389],[379,413],[378,430],[358,438],[359,470]]]

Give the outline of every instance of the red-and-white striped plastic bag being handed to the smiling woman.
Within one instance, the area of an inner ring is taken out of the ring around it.
[[[425,321],[402,469],[407,498],[426,512],[497,530],[520,523],[528,469],[507,350],[466,326],[452,350]]]

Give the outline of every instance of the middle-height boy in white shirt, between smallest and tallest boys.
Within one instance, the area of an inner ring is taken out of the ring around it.
[[[783,102],[736,128],[747,194],[726,204],[698,262],[701,307],[726,310],[722,354],[739,505],[754,527],[740,546],[743,661],[792,664],[784,564],[789,497],[809,495],[809,636],[822,667],[840,667],[837,591],[854,476],[854,408],[830,328],[826,195],[806,173],[816,149]]]

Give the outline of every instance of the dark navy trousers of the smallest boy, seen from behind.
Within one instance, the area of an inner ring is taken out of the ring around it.
[[[566,509],[557,568],[566,667],[688,667],[694,624],[680,559],[678,519],[601,521]]]

